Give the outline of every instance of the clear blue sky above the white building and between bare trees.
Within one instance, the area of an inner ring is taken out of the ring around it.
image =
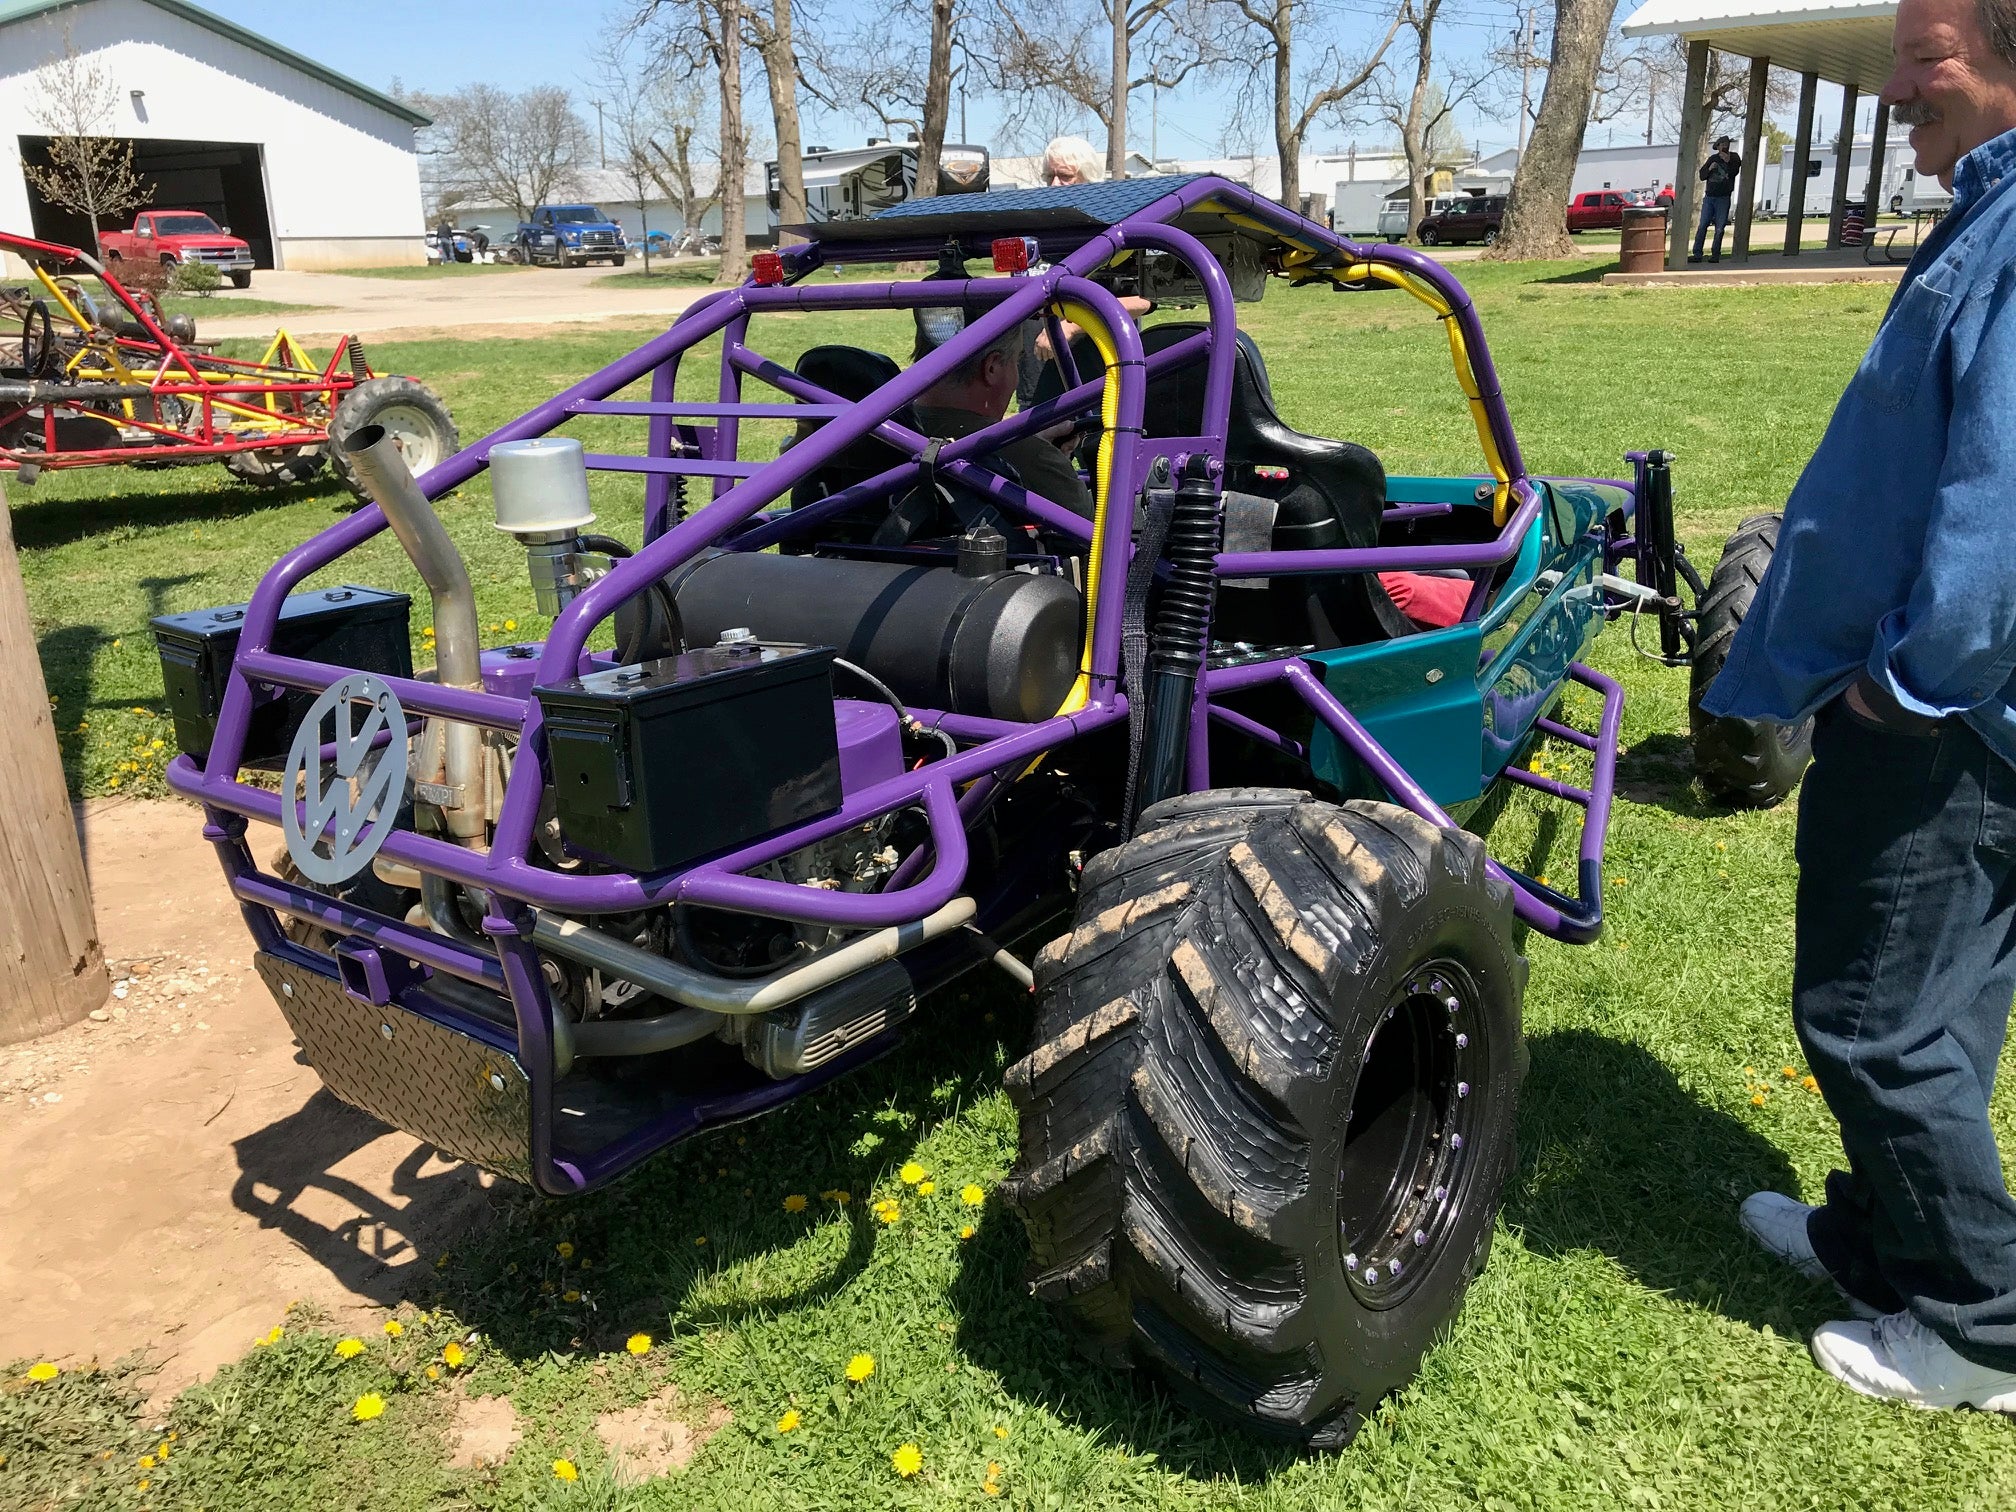
[[[200,0],[210,10],[264,32],[276,42],[304,52],[319,62],[339,69],[367,85],[383,89],[393,77],[415,89],[450,91],[470,83],[492,83],[502,89],[528,89],[532,85],[566,85],[583,113],[593,123],[591,54],[607,18],[625,14],[631,0],[347,0],[339,12],[323,8],[288,8],[272,0]],[[1040,4],[1042,0],[1030,0]],[[1381,0],[1337,0],[1341,24],[1349,26],[1347,42],[1367,42],[1383,30],[1383,20],[1391,14]],[[1631,0],[1623,0],[1619,14],[1631,10]],[[341,24],[331,16],[341,14]],[[853,30],[853,22],[863,14],[887,14],[877,0],[827,0],[827,14],[835,32]],[[1518,0],[1445,0],[1443,22],[1437,30],[1437,54],[1452,60],[1468,60],[1482,54],[1492,42],[1512,36],[1516,30]],[[1375,20],[1377,18],[1377,20]],[[1534,77],[1538,91],[1540,75]],[[1163,157],[1208,157],[1224,149],[1226,99],[1224,83],[1200,83],[1198,87],[1171,91],[1161,97],[1159,111],[1151,113],[1147,93],[1133,97],[1133,145],[1147,151],[1151,145],[1151,119],[1159,117],[1159,131],[1153,131]],[[1460,119],[1466,139],[1484,149],[1510,147],[1516,131],[1518,83],[1512,81],[1512,105],[1480,117],[1476,111]],[[760,109],[760,101],[752,101]],[[1820,91],[1820,117],[1833,127],[1839,119],[1839,93],[1833,87]],[[1863,109],[1867,117],[1867,105]],[[954,133],[958,133],[958,103],[954,105]],[[978,143],[1002,147],[996,141],[998,109],[984,97],[968,101],[968,137]],[[881,133],[873,117],[833,115],[808,107],[806,141],[845,145],[861,141],[869,133]],[[1643,117],[1635,121],[1615,121],[1589,131],[1589,145],[1601,147],[1643,139]],[[1361,147],[1371,147],[1391,139],[1391,131],[1379,125],[1361,127],[1318,127],[1310,133],[1310,149],[1343,147],[1357,139]],[[1260,151],[1270,151],[1272,141],[1262,137],[1252,143]]]

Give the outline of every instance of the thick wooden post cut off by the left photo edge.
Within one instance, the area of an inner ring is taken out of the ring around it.
[[[12,1044],[77,1022],[109,982],[4,490],[0,802],[0,1044]]]

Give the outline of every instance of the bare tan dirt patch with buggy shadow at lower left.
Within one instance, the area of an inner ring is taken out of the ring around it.
[[[167,1395],[292,1300],[375,1329],[492,1204],[298,1060],[202,823],[179,800],[85,806],[125,996],[0,1052],[0,1361],[145,1349]]]

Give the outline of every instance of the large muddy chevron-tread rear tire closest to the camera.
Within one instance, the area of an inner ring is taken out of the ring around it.
[[[1030,1288],[1095,1357],[1343,1447],[1490,1254],[1524,986],[1474,835],[1276,788],[1155,804],[1087,865],[1006,1075]]]

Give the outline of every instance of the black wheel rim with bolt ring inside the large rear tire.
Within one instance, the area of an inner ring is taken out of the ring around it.
[[[1393,1306],[1450,1248],[1486,1075],[1476,982],[1450,960],[1399,984],[1365,1044],[1337,1163],[1337,1240],[1351,1290]]]

